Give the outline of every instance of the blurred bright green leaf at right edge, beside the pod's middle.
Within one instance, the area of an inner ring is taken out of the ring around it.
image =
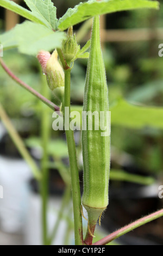
[[[115,106],[110,108],[111,124],[142,129],[155,127],[163,129],[163,108],[132,105],[124,100],[118,100]]]

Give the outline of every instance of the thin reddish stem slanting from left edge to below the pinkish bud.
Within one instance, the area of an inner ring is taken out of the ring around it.
[[[32,87],[28,86],[27,83],[24,83],[23,81],[20,80],[20,78],[18,78],[17,76],[15,76],[11,70],[8,68],[7,65],[5,65],[5,63],[3,62],[2,58],[0,58],[0,64],[2,66],[2,68],[5,70],[5,72],[7,72],[7,74],[12,78],[12,80],[14,80],[15,82],[17,82],[18,84],[20,84],[21,87],[23,87],[24,89],[28,90],[28,92],[32,93],[34,96],[36,96],[39,100],[41,100],[43,103],[45,103],[48,107],[50,107],[53,111],[60,111],[60,108],[55,105],[52,101],[46,99],[46,97],[44,97],[43,95],[41,95],[40,93],[36,92],[36,90],[34,90]]]

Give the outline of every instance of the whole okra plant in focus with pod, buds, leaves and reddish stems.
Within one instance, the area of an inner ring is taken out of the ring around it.
[[[51,0],[24,0],[30,10],[9,1],[1,0],[0,5],[6,9],[23,16],[27,20],[17,25],[11,31],[0,36],[4,50],[17,47],[20,53],[29,54],[40,62],[42,72],[46,75],[47,86],[53,94],[53,102],[36,92],[28,84],[16,77],[5,65],[1,58],[3,69],[18,84],[35,95],[53,111],[58,111],[65,120],[68,108],[71,113],[71,70],[78,58],[88,59],[85,92],[84,112],[97,112],[98,115],[92,121],[92,129],[89,129],[87,119],[83,118],[82,149],[83,149],[83,186],[84,193],[81,197],[79,186],[79,171],[74,142],[74,132],[70,128],[72,117],[65,122],[68,155],[70,160],[73,216],[74,216],[74,239],[76,245],[92,245],[92,239],[96,224],[108,206],[109,202],[109,171],[110,171],[110,133],[103,136],[103,129],[96,129],[96,121],[99,123],[100,112],[104,113],[104,126],[110,126],[108,121],[109,102],[108,86],[106,83],[105,66],[100,44],[100,15],[123,10],[139,8],[158,9],[159,3],[150,0],[90,0],[79,3],[73,9],[68,9],[64,16],[57,19],[56,8]],[[55,2],[54,2],[55,4]],[[73,26],[93,18],[91,39],[81,48],[73,33]],[[67,33],[66,33],[67,30]],[[89,52],[87,51],[90,48]],[[4,52],[5,55],[5,52]],[[74,107],[73,107],[74,109]],[[45,181],[46,174],[34,173],[36,178]],[[45,182],[42,183],[46,186]],[[47,194],[43,193],[42,200],[46,205]],[[65,199],[66,200],[66,199]],[[83,206],[87,211],[87,231],[83,238],[82,216]],[[51,244],[52,239],[48,236],[46,209],[43,217],[43,243]],[[115,231],[93,245],[105,245],[117,237],[154,220],[163,215],[163,210],[143,217],[140,220]]]

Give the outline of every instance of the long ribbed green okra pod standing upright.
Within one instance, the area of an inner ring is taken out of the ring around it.
[[[92,130],[88,122],[82,131],[84,164],[83,206],[89,218],[89,231],[93,233],[98,217],[108,205],[109,169],[110,169],[110,134],[102,136],[103,130],[97,130],[96,122],[104,113],[109,113],[108,87],[102,56],[99,32],[99,16],[94,17],[91,35],[90,57],[87,64],[83,113],[96,112]],[[92,116],[93,117],[93,116]],[[106,124],[106,120],[105,120]]]

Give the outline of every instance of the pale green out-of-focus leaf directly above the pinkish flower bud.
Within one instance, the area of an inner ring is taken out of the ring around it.
[[[18,41],[18,50],[21,53],[36,55],[40,50],[52,51],[61,47],[65,39],[64,32],[53,32],[41,24],[24,21],[14,29]]]

